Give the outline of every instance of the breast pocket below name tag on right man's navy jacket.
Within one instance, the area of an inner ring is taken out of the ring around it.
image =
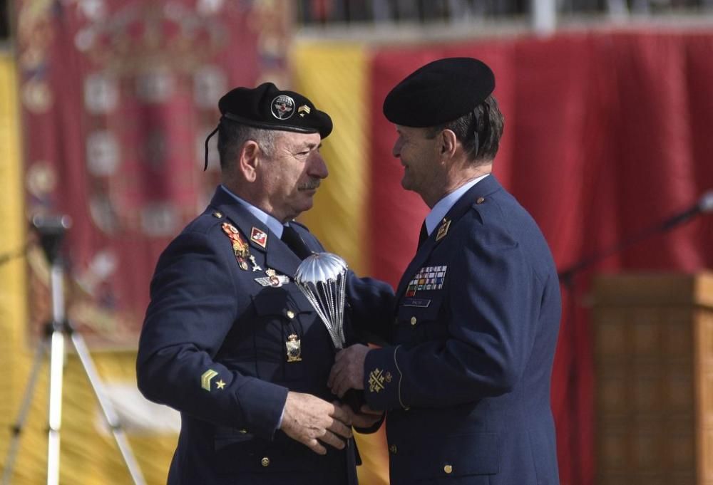
[[[402,298],[396,311],[396,341],[407,343],[444,338],[448,333],[445,315],[441,298]]]

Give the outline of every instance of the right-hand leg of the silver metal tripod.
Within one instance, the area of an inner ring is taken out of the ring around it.
[[[114,410],[111,401],[108,400],[106,397],[104,385],[102,384],[101,379],[99,378],[99,375],[96,372],[96,367],[94,367],[94,363],[91,360],[91,356],[89,354],[89,350],[86,346],[86,343],[84,343],[84,339],[81,337],[81,335],[74,332],[71,328],[71,325],[69,324],[68,332],[71,337],[72,343],[74,344],[74,348],[77,351],[77,355],[79,356],[79,360],[81,360],[82,366],[84,367],[84,372],[86,372],[86,375],[89,378],[89,383],[91,384],[91,387],[94,390],[94,395],[96,395],[96,398],[99,401],[99,405],[101,406],[101,410],[104,413],[106,422],[111,428],[111,433],[114,435],[116,444],[119,447],[121,456],[123,457],[126,463],[126,466],[129,470],[129,473],[131,474],[131,478],[133,479],[134,484],[145,485],[146,482],[144,481],[143,475],[141,474],[141,469],[138,466],[138,462],[136,461],[133,452],[131,452],[128,439],[126,439],[126,434],[124,433],[124,430],[121,427],[116,411]]]

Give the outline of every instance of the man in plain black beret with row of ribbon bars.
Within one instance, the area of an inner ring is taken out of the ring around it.
[[[387,410],[391,485],[555,485],[553,257],[491,174],[503,116],[491,69],[429,63],[391,90],[401,184],[431,208],[396,290],[391,346],[337,355],[332,390]],[[377,329],[378,330],[378,329]]]

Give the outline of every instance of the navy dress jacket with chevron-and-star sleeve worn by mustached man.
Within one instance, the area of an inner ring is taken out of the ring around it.
[[[249,245],[242,261],[224,223]],[[309,249],[324,250],[294,226]],[[299,262],[220,187],[160,256],[137,377],[145,397],[181,413],[169,484],[356,483],[352,440],[320,456],[277,429],[288,390],[335,400],[327,388],[334,345],[294,285]],[[389,286],[353,273],[347,286],[353,319],[389,314]]]

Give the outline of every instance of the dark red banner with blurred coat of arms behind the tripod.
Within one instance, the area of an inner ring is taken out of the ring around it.
[[[29,212],[73,220],[69,318],[91,342],[133,346],[158,254],[219,180],[215,138],[201,172],[217,100],[236,85],[287,83],[290,11],[24,0],[17,12]],[[34,301],[48,300],[35,281]],[[32,307],[34,325],[47,318]]]

